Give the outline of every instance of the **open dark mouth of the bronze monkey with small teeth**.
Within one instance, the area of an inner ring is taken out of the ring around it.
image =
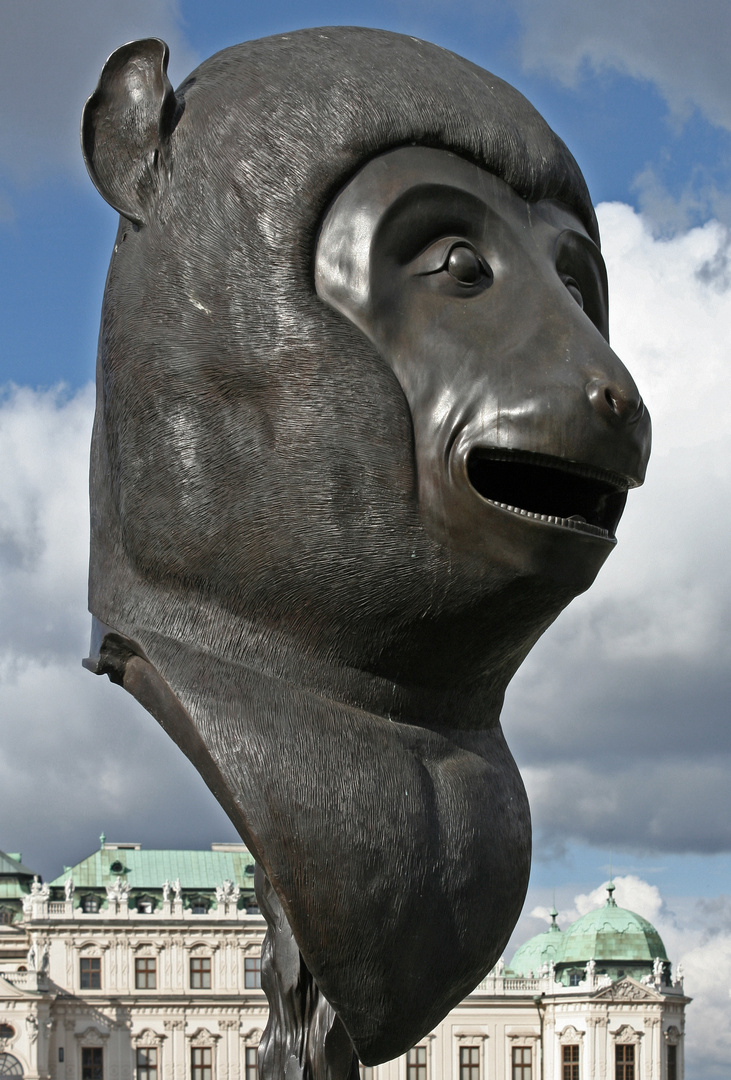
[[[613,540],[630,482],[543,454],[475,448],[468,476],[478,495],[523,517]]]

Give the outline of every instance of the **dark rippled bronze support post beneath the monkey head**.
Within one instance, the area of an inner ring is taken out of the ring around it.
[[[259,1080],[358,1080],[350,1037],[308,971],[276,893],[258,865],[255,888],[267,920],[261,987],[269,1002],[259,1043]]]

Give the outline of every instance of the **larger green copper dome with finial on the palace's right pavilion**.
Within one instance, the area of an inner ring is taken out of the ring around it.
[[[618,907],[610,881],[604,907],[577,919],[563,935],[560,963],[585,964],[588,960],[651,962],[667,959],[665,946],[655,928],[641,915]]]

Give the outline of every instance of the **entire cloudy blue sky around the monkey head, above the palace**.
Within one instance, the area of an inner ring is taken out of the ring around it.
[[[163,37],[176,83],[236,41],[328,24],[427,38],[512,82],[601,204],[613,345],[655,449],[597,585],[507,697],[537,834],[517,936],[540,929],[531,913],[554,890],[576,915],[612,860],[625,903],[646,905],[698,983],[689,1052],[712,1080],[730,1048],[701,1017],[728,1011],[731,985],[731,9],[715,0],[3,5],[0,848],[51,877],[101,828],[146,846],[231,835],[153,721],[79,666],[89,384],[117,216],[85,175],[78,124],[125,40]]]

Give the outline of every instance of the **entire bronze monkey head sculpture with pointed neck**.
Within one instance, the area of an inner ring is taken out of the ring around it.
[[[92,448],[89,665],[191,757],[367,1063],[518,917],[505,687],[614,544],[648,414],[596,219],[511,86],[354,28],[84,110],[121,215]]]

